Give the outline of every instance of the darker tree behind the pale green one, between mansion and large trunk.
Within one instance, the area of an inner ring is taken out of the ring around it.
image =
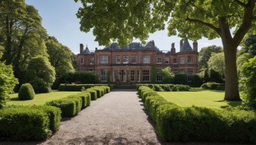
[[[208,47],[204,47],[199,52],[199,69],[208,69],[208,60],[210,59],[212,53],[220,53],[223,52],[223,48],[220,46],[212,45]]]

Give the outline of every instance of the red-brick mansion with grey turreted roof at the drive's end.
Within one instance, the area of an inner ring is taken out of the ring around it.
[[[95,48],[95,52],[90,52],[87,46],[84,49],[80,44],[77,55],[77,71],[95,71],[102,83],[150,83],[152,66],[157,69],[170,66],[172,72],[186,73],[188,81],[192,81],[193,74],[198,72],[198,43],[194,41],[192,48],[188,39],[184,42],[180,40],[180,52],[176,52],[174,43],[170,52],[163,52],[155,46],[154,41],[145,46],[130,43],[121,48],[118,43],[112,43],[102,50]],[[163,81],[159,72],[156,80]]]

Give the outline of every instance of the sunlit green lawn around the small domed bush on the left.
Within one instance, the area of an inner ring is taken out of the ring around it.
[[[68,95],[77,94],[79,92],[58,92],[58,91],[52,91],[51,93],[38,93],[35,95],[33,100],[19,100],[18,93],[10,94],[11,97],[10,100],[6,101],[6,104],[8,105],[43,105],[45,102],[49,100],[57,100],[64,97],[67,97]]]

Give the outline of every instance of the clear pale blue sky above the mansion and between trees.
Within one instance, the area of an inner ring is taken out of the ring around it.
[[[85,33],[81,32],[79,27],[79,19],[76,13],[79,7],[82,6],[80,2],[75,3],[74,0],[26,0],[26,4],[35,6],[39,15],[42,17],[42,25],[47,30],[50,36],[54,36],[60,43],[68,46],[75,54],[79,53],[79,44],[92,51],[95,48],[104,48],[99,46],[94,41],[95,37],[92,31]],[[176,36],[167,36],[167,30],[157,31],[150,34],[148,41],[154,40],[156,46],[160,50],[170,51],[172,43],[175,43],[176,52],[179,52],[180,38]],[[140,42],[138,39],[135,42]],[[192,41],[189,41],[192,46]],[[221,39],[208,40],[206,38],[198,40],[198,51],[206,46],[216,45],[222,46]]]

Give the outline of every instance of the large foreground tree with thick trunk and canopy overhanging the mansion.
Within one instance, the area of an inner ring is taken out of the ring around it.
[[[79,1],[79,0],[75,0]],[[256,0],[130,0],[98,1],[80,0],[77,17],[81,31],[93,28],[95,41],[120,45],[139,38],[147,39],[148,33],[164,29],[170,18],[168,35],[190,39],[221,38],[225,53],[225,100],[240,100],[236,52],[237,46],[248,31],[255,29]],[[234,33],[230,32],[235,28]]]

